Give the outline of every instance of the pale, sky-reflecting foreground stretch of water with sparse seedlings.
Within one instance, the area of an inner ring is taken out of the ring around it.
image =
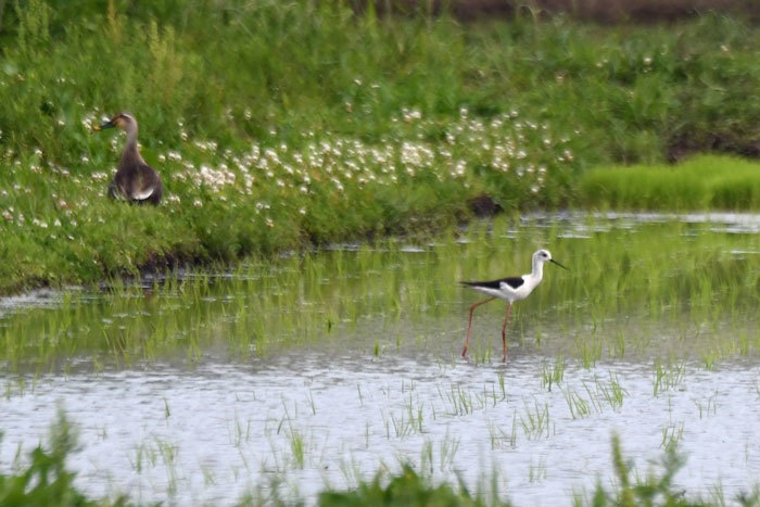
[[[78,482],[96,495],[123,491],[145,502],[230,504],[274,476],[284,479],[284,495],[312,497],[326,484],[370,479],[381,462],[419,466],[430,445],[426,469],[436,479],[460,473],[474,485],[498,472],[501,492],[517,505],[567,505],[574,491],[610,480],[612,431],[642,472],[663,453],[663,434],[680,433],[688,460],[677,483],[692,494],[720,484],[731,498],[757,482],[758,367],[685,366],[677,386],[654,396],[647,365],[568,365],[549,392],[536,376],[543,360],[531,354],[506,368],[476,367],[439,365],[428,354],[372,360],[311,351],[267,364],[45,376],[2,402],[1,457],[8,465],[16,443],[34,445],[63,404],[85,444],[71,460]],[[620,406],[598,394],[610,379],[626,391]],[[569,393],[591,405],[588,415],[573,418]],[[531,430],[530,416],[544,410],[546,426]]]

